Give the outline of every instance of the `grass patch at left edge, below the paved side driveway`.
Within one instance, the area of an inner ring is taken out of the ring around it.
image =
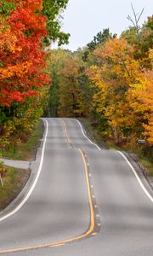
[[[13,167],[6,168],[8,174],[6,177],[3,177],[3,187],[0,183],[0,211],[19,195],[26,185],[31,172],[30,170],[14,169]]]

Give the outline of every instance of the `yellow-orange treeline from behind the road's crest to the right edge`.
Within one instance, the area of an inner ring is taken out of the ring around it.
[[[116,144],[152,146],[152,45],[153,16],[120,38],[104,29],[83,49],[53,50],[48,116],[88,117]]]

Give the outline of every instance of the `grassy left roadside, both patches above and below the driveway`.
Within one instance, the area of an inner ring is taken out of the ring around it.
[[[8,152],[1,151],[0,155],[3,158],[13,160],[34,160],[41,137],[42,122],[39,121],[26,143],[20,143],[16,148],[10,147]],[[7,166],[6,168],[8,170],[8,175],[3,177],[3,187],[0,183],[0,211],[7,207],[8,204],[19,195],[20,191],[26,185],[31,173],[30,170],[20,170]]]

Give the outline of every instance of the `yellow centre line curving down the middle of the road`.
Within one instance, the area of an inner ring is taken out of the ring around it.
[[[66,127],[65,127],[65,134],[67,135]],[[80,240],[82,238],[87,237],[90,234],[92,236],[95,236],[97,234],[95,232],[93,233],[94,226],[95,226],[95,222],[94,222],[94,206],[93,206],[92,195],[91,195],[91,190],[90,190],[90,183],[89,183],[89,178],[88,178],[87,160],[85,159],[85,156],[84,156],[84,154],[82,152],[82,149],[78,148],[78,151],[79,151],[79,153],[82,156],[82,160],[83,160],[83,164],[84,164],[84,171],[85,171],[86,181],[87,181],[87,188],[88,188],[88,202],[89,202],[89,207],[90,207],[90,227],[89,227],[89,229],[84,234],[82,234],[80,236],[75,236],[75,237],[72,237],[72,238],[69,238],[69,239],[66,239],[66,240],[50,242],[50,243],[46,243],[46,244],[42,244],[42,245],[37,245],[37,246],[31,246],[31,247],[20,247],[20,248],[16,248],[16,249],[8,249],[8,250],[0,251],[0,253],[15,253],[15,252],[21,252],[21,251],[26,251],[26,250],[31,250],[31,249],[40,249],[40,248],[43,248],[43,247],[59,247],[59,246],[65,245],[65,243],[69,243],[69,242],[72,242],[72,241],[78,241],[78,240]]]

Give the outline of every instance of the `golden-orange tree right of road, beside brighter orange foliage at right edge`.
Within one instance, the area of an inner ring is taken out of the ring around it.
[[[137,84],[141,73],[139,61],[133,59],[133,51],[125,39],[110,39],[94,51],[100,66],[88,69],[88,76],[97,87],[93,97],[95,111],[99,119],[105,120],[105,127],[109,125],[107,134],[116,143],[127,137],[136,140],[136,134],[143,131],[142,125],[138,127],[143,118],[133,113],[127,99],[129,84]]]

